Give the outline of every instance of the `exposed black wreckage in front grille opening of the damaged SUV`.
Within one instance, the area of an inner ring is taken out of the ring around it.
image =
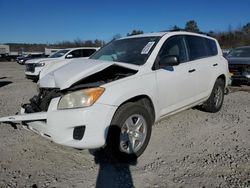
[[[30,99],[30,103],[23,104],[25,113],[46,112],[49,108],[49,104],[53,98],[61,96],[60,89],[40,89],[38,95],[35,95]]]

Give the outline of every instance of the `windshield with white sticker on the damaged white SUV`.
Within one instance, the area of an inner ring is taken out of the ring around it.
[[[160,37],[140,37],[114,40],[97,51],[90,59],[144,64]]]

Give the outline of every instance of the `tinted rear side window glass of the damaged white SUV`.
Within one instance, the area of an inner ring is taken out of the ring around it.
[[[186,36],[186,42],[191,61],[218,54],[214,40],[198,36]]]

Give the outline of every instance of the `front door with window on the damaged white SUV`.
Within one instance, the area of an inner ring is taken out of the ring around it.
[[[188,53],[183,36],[174,36],[165,41],[157,59],[177,56],[180,64],[156,70],[158,99],[161,116],[183,108],[193,101],[196,93],[195,70],[188,63]]]

